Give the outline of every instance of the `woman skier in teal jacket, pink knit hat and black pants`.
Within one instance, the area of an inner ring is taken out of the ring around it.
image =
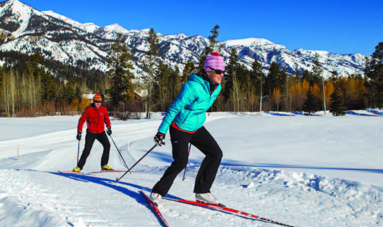
[[[206,111],[213,105],[221,90],[220,83],[224,71],[223,57],[219,56],[218,52],[207,55],[204,69],[198,69],[190,76],[169,106],[154,141],[159,146],[164,145],[164,138],[169,130],[174,161],[166,169],[161,180],[154,185],[150,194],[153,202],[160,202],[176,176],[186,167],[190,142],[206,155],[195,180],[196,200],[219,204],[219,200],[210,193],[210,188],[217,175],[222,151],[203,124]]]

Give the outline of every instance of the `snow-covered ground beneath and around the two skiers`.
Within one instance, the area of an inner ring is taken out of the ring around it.
[[[129,166],[153,146],[163,114],[153,116],[112,120],[112,138]],[[293,226],[382,226],[382,117],[379,110],[345,117],[212,113],[205,127],[223,150],[212,192],[229,207]],[[135,167],[144,172],[119,182],[119,173],[59,174],[75,166],[77,120],[0,118],[0,226],[161,226],[139,190],[149,194],[170,165],[169,135]],[[111,145],[109,165],[124,169]],[[83,171],[99,170],[101,154],[96,142]],[[193,199],[202,159],[192,147],[186,179],[180,174],[168,196]],[[274,226],[172,201],[160,209],[171,226]]]

